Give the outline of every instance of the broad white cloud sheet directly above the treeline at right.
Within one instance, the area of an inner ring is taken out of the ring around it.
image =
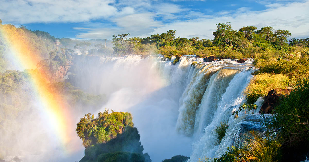
[[[258,28],[272,26],[275,29],[290,30],[291,38],[309,37],[309,1],[292,2],[285,5],[260,11],[237,10],[221,11],[217,16],[197,18],[185,21],[174,21],[156,28],[151,34],[176,30],[176,36],[190,37],[191,35],[206,35],[213,38],[215,24],[231,22],[232,28],[238,30],[242,26],[254,25]]]

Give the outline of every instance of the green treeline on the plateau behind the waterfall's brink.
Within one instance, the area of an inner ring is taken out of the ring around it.
[[[292,47],[309,47],[309,38],[291,39],[288,30],[275,30],[273,27],[254,26],[232,30],[231,23],[217,24],[213,32],[214,39],[175,38],[176,30],[151,35],[146,38],[131,37],[130,34],[113,35],[114,54],[148,54],[161,53],[174,56],[176,54],[197,56],[216,56],[226,58],[254,57],[255,53],[265,50],[291,51]]]

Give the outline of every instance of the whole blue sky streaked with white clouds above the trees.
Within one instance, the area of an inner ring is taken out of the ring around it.
[[[309,0],[0,0],[2,24],[24,25],[55,37],[111,39],[146,37],[176,30],[176,36],[213,39],[216,24],[232,28],[271,26],[290,38],[309,37]]]

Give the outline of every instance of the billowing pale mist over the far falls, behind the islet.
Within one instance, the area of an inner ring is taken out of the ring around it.
[[[186,86],[191,63],[184,61],[178,66],[162,59],[160,55],[145,59],[137,55],[85,57],[74,62],[73,69],[78,70],[72,72],[75,74],[75,86],[89,93],[107,96],[107,103],[101,111],[107,108],[133,115],[144,152],[153,161],[179,154],[189,156],[192,143],[191,138],[175,129],[179,99]]]

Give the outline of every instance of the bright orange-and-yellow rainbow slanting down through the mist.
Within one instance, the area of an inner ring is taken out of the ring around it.
[[[6,43],[6,48],[10,48],[11,60],[14,60],[15,69],[29,69],[35,100],[44,119],[48,121],[47,127],[51,127],[56,135],[56,139],[62,143],[62,148],[66,152],[73,151],[67,148],[70,145],[72,122],[70,106],[62,99],[61,94],[54,92],[50,87],[50,80],[37,69],[37,63],[43,60],[36,47],[28,41],[27,31],[15,26],[0,24],[0,35]],[[73,127],[74,128],[74,127]],[[74,129],[73,129],[74,130]],[[75,133],[76,136],[76,133]],[[74,149],[74,148],[73,148]]]

